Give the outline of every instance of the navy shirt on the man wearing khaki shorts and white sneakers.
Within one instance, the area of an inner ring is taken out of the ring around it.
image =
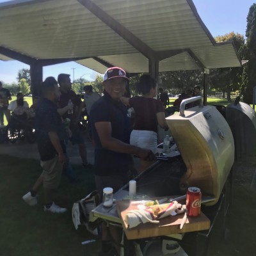
[[[65,128],[63,127],[61,116],[57,112],[57,105],[51,100],[45,98],[39,100],[35,115],[35,129],[41,161],[50,160],[57,155],[48,132],[56,132],[58,134],[61,147],[63,152],[65,152],[65,145],[63,143]]]

